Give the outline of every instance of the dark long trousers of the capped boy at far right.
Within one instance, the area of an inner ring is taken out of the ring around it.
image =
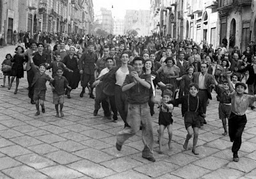
[[[232,145],[232,152],[236,153],[241,147],[242,144],[242,134],[244,127],[246,125],[246,115],[237,116],[234,113],[230,114],[228,118],[228,135],[230,137],[230,141],[234,142]]]

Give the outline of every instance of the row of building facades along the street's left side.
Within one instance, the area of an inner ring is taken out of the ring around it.
[[[1,0],[0,45],[12,43],[13,31],[90,34],[92,0]]]

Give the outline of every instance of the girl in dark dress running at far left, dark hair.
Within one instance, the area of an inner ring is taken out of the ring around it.
[[[16,88],[14,91],[14,94],[17,94],[18,91],[18,86],[19,86],[19,82],[20,82],[20,78],[24,77],[24,69],[23,69],[23,63],[28,61],[26,58],[24,58],[24,56],[21,56],[20,54],[24,53],[24,49],[20,46],[16,47],[15,49],[15,55],[13,56],[12,62],[12,79],[10,82],[10,85],[8,87],[8,89],[12,88],[12,83],[16,77]]]

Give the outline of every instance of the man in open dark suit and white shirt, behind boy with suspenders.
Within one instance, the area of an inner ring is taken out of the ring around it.
[[[206,113],[207,100],[212,99],[211,84],[214,84],[214,77],[211,74],[207,74],[208,67],[209,66],[206,63],[201,63],[201,72],[195,72],[193,74],[193,82],[199,86],[198,96],[202,99],[203,102],[204,116]],[[205,117],[201,120],[201,126],[203,126],[204,123],[207,123],[205,121]]]

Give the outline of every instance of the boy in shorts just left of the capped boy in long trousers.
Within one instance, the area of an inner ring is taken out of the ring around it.
[[[220,99],[219,104],[219,118],[222,121],[222,125],[224,128],[223,136],[227,136],[227,118],[229,118],[231,113],[231,99],[230,99],[230,90],[228,86],[228,81],[223,81],[223,85],[218,84],[216,79],[214,79],[215,91],[218,94]],[[222,87],[223,86],[223,87]]]

